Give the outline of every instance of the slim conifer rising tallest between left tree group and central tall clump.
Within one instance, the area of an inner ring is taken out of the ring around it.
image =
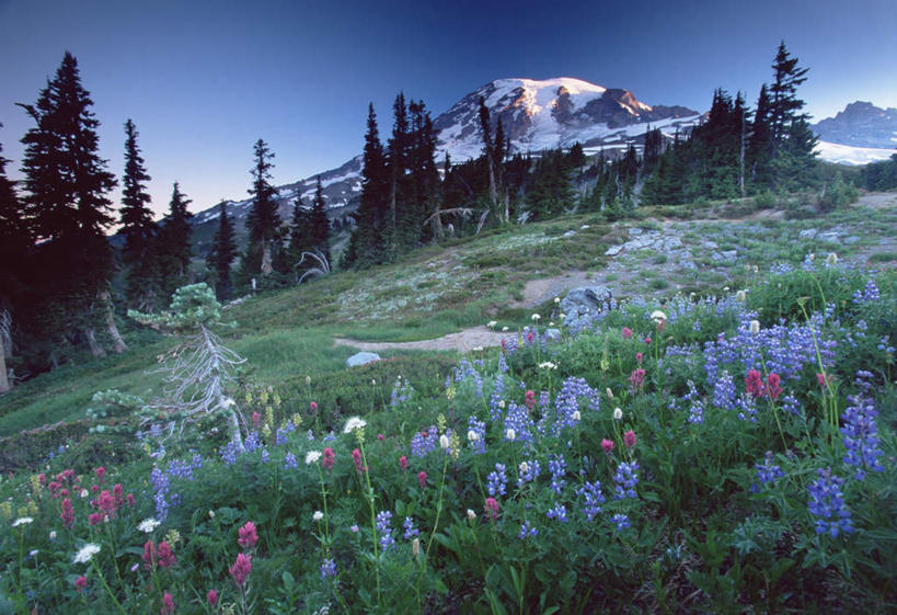
[[[249,229],[248,252],[252,248],[258,249],[262,254],[260,272],[268,275],[274,271],[272,266],[272,249],[274,241],[278,237],[280,228],[280,215],[277,213],[277,192],[271,185],[271,170],[274,168],[271,159],[274,153],[262,139],[255,141],[253,146],[255,153],[255,164],[250,171],[252,173],[252,208],[246,216],[246,228]]]

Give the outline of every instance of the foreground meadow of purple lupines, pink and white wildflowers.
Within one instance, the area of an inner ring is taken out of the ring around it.
[[[0,613],[895,612],[897,285],[821,261],[552,301],[352,414],[232,384],[48,451],[0,483]]]

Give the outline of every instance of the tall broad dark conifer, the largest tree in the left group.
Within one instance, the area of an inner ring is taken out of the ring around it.
[[[97,155],[100,122],[92,105],[68,52],[37,102],[21,105],[35,122],[22,138],[22,171],[25,216],[42,241],[35,308],[43,339],[55,340],[50,361],[76,332],[94,355],[105,354],[97,324],[105,324],[115,352],[127,350],[108,298],[113,252],[105,230],[114,218],[107,194],[116,182]]]

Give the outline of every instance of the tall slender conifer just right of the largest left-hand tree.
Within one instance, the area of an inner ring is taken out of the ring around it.
[[[122,179],[122,235],[125,236],[123,261],[126,269],[128,306],[137,309],[156,307],[156,261],[152,242],[156,223],[150,212],[150,195],[145,182],[147,174],[143,158],[137,147],[137,128],[134,122],[125,123],[125,175]]]

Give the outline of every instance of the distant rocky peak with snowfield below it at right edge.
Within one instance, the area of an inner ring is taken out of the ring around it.
[[[835,117],[812,126],[819,158],[839,164],[866,164],[897,153],[897,109],[852,102]]]

